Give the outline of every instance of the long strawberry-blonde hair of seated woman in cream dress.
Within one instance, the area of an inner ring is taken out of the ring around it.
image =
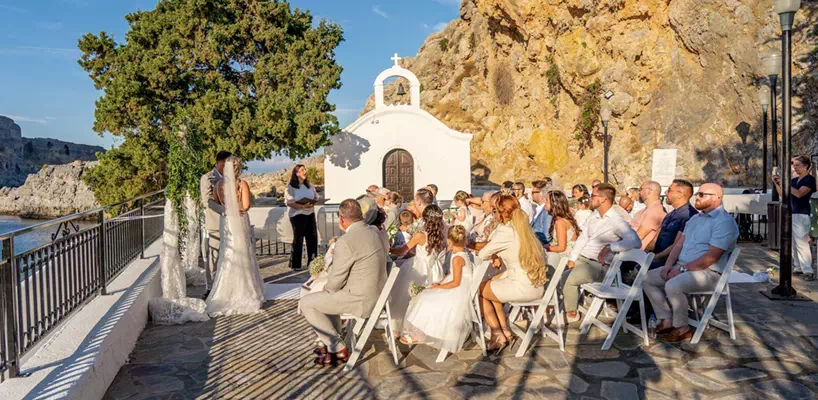
[[[497,211],[501,222],[510,222],[511,228],[520,241],[520,266],[534,286],[541,286],[548,280],[545,276],[545,253],[537,240],[528,216],[520,208],[520,202],[512,195],[502,195],[497,200]]]

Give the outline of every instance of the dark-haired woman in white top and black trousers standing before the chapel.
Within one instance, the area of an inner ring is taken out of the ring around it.
[[[303,203],[304,200],[312,202]],[[307,179],[307,167],[297,164],[293,168],[290,182],[284,194],[284,201],[287,205],[287,216],[290,217],[290,225],[293,227],[292,256],[290,257],[290,268],[301,269],[301,251],[304,241],[307,242],[307,265],[318,254],[318,229],[315,224],[315,204],[318,195],[315,193],[315,186]]]

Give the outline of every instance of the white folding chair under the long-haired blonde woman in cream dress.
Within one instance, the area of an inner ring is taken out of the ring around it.
[[[545,294],[541,299],[530,302],[509,303],[511,306],[511,313],[508,315],[508,326],[515,335],[523,339],[522,343],[520,343],[520,347],[517,349],[516,357],[522,357],[525,352],[528,351],[528,346],[531,344],[531,340],[534,338],[534,334],[537,333],[538,330],[542,330],[543,337],[550,337],[559,343],[560,351],[565,351],[565,341],[562,337],[563,321],[562,313],[560,312],[560,299],[559,294],[557,293],[557,287],[560,285],[562,273],[565,271],[565,266],[567,264],[568,258],[563,257],[559,264],[557,264],[557,269],[554,271],[554,275],[551,276],[551,281],[549,281],[548,287],[545,289]],[[552,318],[556,320],[557,323],[556,332],[545,326],[545,314],[548,306],[554,307],[554,315]],[[536,307],[537,309],[532,313],[531,309],[533,307]],[[524,314],[528,313],[531,317],[531,320],[528,322],[528,329],[525,332],[514,324],[514,321],[517,319],[517,315],[520,314],[520,311],[524,311]]]

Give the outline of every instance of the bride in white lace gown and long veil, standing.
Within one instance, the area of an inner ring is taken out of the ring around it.
[[[207,313],[211,316],[250,314],[264,303],[264,284],[250,239],[250,187],[237,180],[243,169],[238,157],[229,157],[224,179],[216,184],[213,199],[224,205],[219,219],[219,262],[213,290],[207,296]]]

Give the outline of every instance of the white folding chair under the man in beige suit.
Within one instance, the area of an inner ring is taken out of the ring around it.
[[[395,345],[395,335],[392,333],[392,312],[389,309],[389,302],[387,301],[389,292],[392,291],[392,286],[395,285],[395,281],[398,279],[398,272],[400,272],[400,268],[395,267],[394,263],[392,263],[386,284],[383,286],[383,290],[381,290],[381,294],[378,296],[378,301],[375,303],[375,308],[372,309],[372,313],[369,314],[368,318],[358,318],[349,314],[341,315],[341,319],[353,320],[355,324],[354,326],[347,327],[347,345],[352,348],[352,355],[350,355],[349,360],[346,365],[344,365],[345,373],[355,368],[355,363],[358,362],[358,358],[361,357],[366,341],[369,339],[369,335],[372,333],[372,329],[375,328],[375,324],[378,322],[382,313],[386,313],[386,337],[389,344],[389,351],[392,352],[392,360],[395,362],[395,365],[398,365],[398,348]],[[363,331],[361,331],[362,328]]]

